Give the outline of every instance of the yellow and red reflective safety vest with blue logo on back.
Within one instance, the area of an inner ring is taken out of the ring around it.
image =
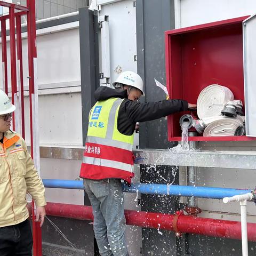
[[[91,109],[81,178],[117,178],[131,183],[134,176],[133,134],[124,135],[117,129],[122,101],[120,98],[98,101]]]

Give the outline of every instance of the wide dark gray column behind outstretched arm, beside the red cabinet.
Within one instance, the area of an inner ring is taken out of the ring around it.
[[[145,83],[145,101],[165,99],[165,94],[159,90],[154,78],[165,84],[165,37],[164,31],[174,28],[174,0],[137,0],[137,70]],[[150,121],[140,123],[140,148],[167,148],[172,143],[167,141],[167,122]],[[177,167],[157,165],[155,167],[140,165],[141,183],[162,183],[164,177],[168,183],[179,184],[179,173],[172,175]],[[173,180],[174,179],[174,180]],[[167,203],[163,203],[163,202]],[[141,195],[141,210],[150,212],[174,213],[180,208],[177,197],[158,197]],[[162,231],[162,230],[161,230]],[[167,251],[172,255],[181,255],[178,246],[183,247],[183,241],[173,233],[142,228],[142,255],[161,255]],[[177,250],[178,249],[178,250]]]

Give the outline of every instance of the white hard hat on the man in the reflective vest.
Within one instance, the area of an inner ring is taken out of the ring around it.
[[[145,95],[145,92],[143,91],[142,78],[133,71],[124,71],[124,72],[122,72],[117,77],[116,81],[113,83],[114,87],[115,87],[116,83],[121,83],[121,84],[133,86],[133,87],[139,89],[142,92],[142,95]]]

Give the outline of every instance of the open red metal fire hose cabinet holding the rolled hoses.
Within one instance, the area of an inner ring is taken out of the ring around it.
[[[171,99],[195,103],[210,84],[227,86],[244,102],[243,28],[249,16],[165,32],[166,85]],[[168,139],[181,140],[179,118],[168,117]],[[190,137],[193,141],[245,141],[256,138]]]

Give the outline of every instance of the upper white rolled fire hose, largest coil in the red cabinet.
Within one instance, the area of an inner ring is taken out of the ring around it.
[[[223,106],[233,101],[234,95],[228,87],[212,84],[199,94],[197,99],[197,115],[199,119],[220,116]]]

